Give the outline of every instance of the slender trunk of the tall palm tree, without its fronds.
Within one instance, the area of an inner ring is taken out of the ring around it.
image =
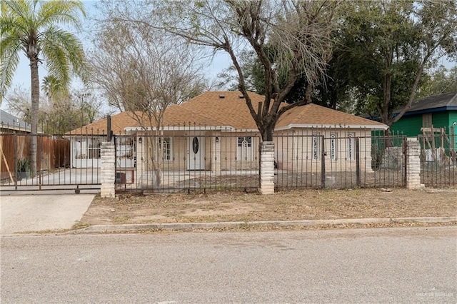
[[[36,176],[37,161],[36,154],[38,151],[37,134],[38,134],[38,111],[40,101],[40,81],[38,75],[38,59],[30,59],[31,72],[31,145],[30,145],[30,164],[32,176]]]

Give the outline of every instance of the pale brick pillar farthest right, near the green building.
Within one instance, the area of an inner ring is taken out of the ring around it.
[[[416,138],[406,141],[406,188],[421,188],[421,144]]]

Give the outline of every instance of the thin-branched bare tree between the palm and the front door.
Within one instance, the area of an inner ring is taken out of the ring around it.
[[[106,19],[94,41],[96,51],[89,53],[94,82],[111,105],[128,111],[144,131],[155,128],[156,136],[146,136],[144,146],[147,170],[154,172],[152,179],[159,186],[166,108],[199,95],[207,82],[191,46],[167,39],[161,31],[151,32],[144,24],[116,19],[111,9],[106,6]]]

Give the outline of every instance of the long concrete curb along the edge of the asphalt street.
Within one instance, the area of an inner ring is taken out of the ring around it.
[[[296,226],[331,226],[347,224],[381,224],[381,223],[452,223],[457,222],[457,216],[440,218],[358,218],[340,220],[306,220],[306,221],[256,221],[256,222],[216,222],[216,223],[151,223],[151,224],[122,224],[94,225],[73,233],[116,233],[138,230],[191,230],[214,228],[246,228],[246,227],[296,227]]]

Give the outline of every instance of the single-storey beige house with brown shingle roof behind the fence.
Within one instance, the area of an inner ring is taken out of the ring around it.
[[[249,96],[254,105],[264,99],[256,93]],[[240,92],[210,91],[170,106],[164,113],[161,131],[146,121],[135,119],[130,112],[111,117],[112,131],[128,135],[116,136],[119,163],[129,159],[127,167],[146,170],[141,163],[154,158],[146,142],[154,137],[161,139],[160,158],[166,170],[220,172],[258,168],[260,135]],[[67,133],[73,166],[99,166],[96,149],[106,136],[106,123],[105,118]],[[383,123],[315,104],[296,107],[276,123],[276,163],[283,170],[307,170],[309,166],[320,168],[318,164],[324,157],[334,166],[356,166],[356,138],[361,138],[360,145],[367,151],[364,164],[371,167],[371,131],[386,128]]]

